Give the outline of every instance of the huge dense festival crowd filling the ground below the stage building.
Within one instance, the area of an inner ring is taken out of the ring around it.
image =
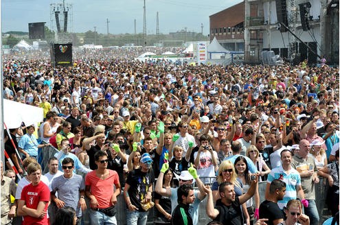
[[[128,225],[197,225],[205,198],[209,224],[319,224],[320,177],[338,215],[339,68],[115,51],[84,51],[71,67],[3,61],[3,97],[43,108],[44,121],[5,131],[1,224],[121,224],[120,194]],[[52,146],[43,174],[38,152]]]

